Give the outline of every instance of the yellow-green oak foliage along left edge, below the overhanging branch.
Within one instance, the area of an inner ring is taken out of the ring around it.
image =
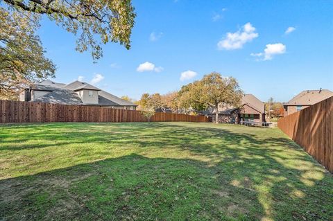
[[[45,58],[31,18],[0,8],[0,99],[15,99],[22,87],[54,77],[56,66]]]

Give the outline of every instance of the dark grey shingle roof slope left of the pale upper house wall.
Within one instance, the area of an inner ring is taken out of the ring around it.
[[[56,103],[60,105],[82,105],[82,100],[76,94],[75,91],[70,91],[67,89],[54,89],[49,94],[40,96],[33,100],[33,102],[43,102],[43,103]]]

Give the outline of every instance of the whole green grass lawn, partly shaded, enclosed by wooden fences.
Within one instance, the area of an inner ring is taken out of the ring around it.
[[[0,220],[333,220],[333,176],[278,129],[0,125]]]

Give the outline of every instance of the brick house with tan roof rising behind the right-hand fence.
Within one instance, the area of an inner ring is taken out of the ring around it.
[[[284,116],[298,112],[331,96],[333,96],[333,92],[327,89],[302,91],[283,105]]]

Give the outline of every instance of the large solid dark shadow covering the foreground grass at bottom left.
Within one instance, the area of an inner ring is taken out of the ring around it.
[[[0,181],[4,220],[233,220],[246,189],[221,184],[216,168],[137,154]],[[261,206],[255,192],[250,204]]]

